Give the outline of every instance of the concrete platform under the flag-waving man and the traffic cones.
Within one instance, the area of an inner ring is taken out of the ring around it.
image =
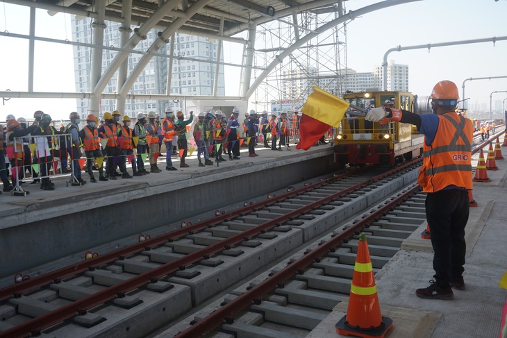
[[[506,147],[501,150],[507,152]],[[479,206],[470,208],[465,229],[466,289],[454,290],[453,301],[415,296],[415,289],[427,287],[434,273],[431,242],[420,237],[426,228],[422,224],[375,276],[382,315],[393,321],[385,337],[498,337],[507,297],[507,290],[498,285],[507,270],[507,160],[496,164],[498,171],[488,170],[490,183],[474,183],[473,196]],[[347,305],[347,301],[339,303],[306,337],[342,337],[335,324],[347,314]]]

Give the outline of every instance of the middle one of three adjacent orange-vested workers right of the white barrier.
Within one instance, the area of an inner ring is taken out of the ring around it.
[[[119,149],[115,119],[109,112],[104,113],[104,119],[106,120],[106,124],[99,127],[99,135],[101,138],[108,140],[106,143],[106,155],[108,156],[108,159],[106,160],[106,178],[116,180],[116,176],[114,174],[115,162],[118,164],[119,170],[122,171],[122,178],[132,178],[132,176],[126,171],[125,164],[119,160],[121,151]]]

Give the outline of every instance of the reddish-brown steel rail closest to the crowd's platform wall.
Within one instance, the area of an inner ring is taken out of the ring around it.
[[[90,260],[85,260],[83,262],[78,262],[76,264],[69,265],[68,267],[64,267],[62,269],[58,269],[55,271],[51,271],[49,273],[44,273],[42,276],[38,276],[35,278],[31,278],[29,280],[24,280],[22,282],[19,282],[15,285],[10,285],[9,287],[5,287],[0,290],[0,301],[5,300],[6,298],[10,298],[11,296],[16,296],[17,294],[20,294],[22,292],[26,292],[32,289],[35,289],[37,287],[42,287],[44,285],[48,285],[54,280],[61,280],[63,278],[66,278],[68,276],[74,276],[77,273],[81,273],[83,271],[86,271],[90,267],[97,267],[102,264],[107,264],[109,262],[112,262],[114,260],[122,259],[122,257],[125,257],[127,255],[131,255],[133,253],[138,253],[145,248],[151,248],[153,246],[158,246],[160,244],[164,244],[167,241],[174,241],[174,239],[177,239],[179,237],[182,237],[184,235],[188,235],[189,233],[197,232],[199,230],[203,230],[205,228],[208,228],[208,226],[215,226],[219,223],[222,223],[223,221],[226,221],[227,219],[233,219],[235,217],[241,216],[242,214],[246,214],[247,212],[250,212],[251,210],[260,209],[269,205],[272,205],[274,203],[278,203],[279,201],[283,201],[286,198],[289,198],[291,196],[297,195],[297,194],[303,194],[304,192],[309,192],[314,187],[320,187],[323,183],[331,183],[335,182],[337,180],[340,180],[342,178],[346,178],[348,176],[357,174],[360,171],[350,171],[345,174],[340,174],[338,176],[334,176],[332,178],[327,178],[326,180],[322,182],[312,183],[306,187],[301,187],[299,189],[294,189],[292,192],[288,192],[286,194],[276,196],[274,198],[270,198],[269,200],[260,201],[258,203],[254,203],[252,205],[248,205],[247,207],[240,208],[238,210],[234,210],[231,212],[226,212],[225,214],[220,214],[219,216],[215,216],[210,219],[204,219],[203,221],[200,221],[198,223],[192,224],[192,226],[188,226],[185,228],[181,228],[178,230],[174,230],[170,233],[166,233],[163,235],[159,235],[156,237],[153,237],[151,239],[147,239],[144,242],[131,244],[130,246],[126,246],[124,248],[119,248],[115,251],[111,251],[109,253],[104,253],[103,255],[99,255],[97,257],[94,257]]]

